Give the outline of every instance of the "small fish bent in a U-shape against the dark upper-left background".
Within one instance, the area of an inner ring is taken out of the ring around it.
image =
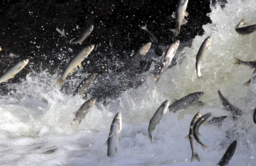
[[[56,31],[58,31],[62,37],[64,38],[64,40],[66,40],[67,42],[71,43],[71,44],[77,44],[79,43],[80,45],[82,44],[82,42],[91,34],[91,32],[93,31],[93,25],[88,26],[82,33],[80,33],[76,38],[73,39],[68,39],[65,36],[65,30],[63,29],[62,31],[58,28],[56,28]]]

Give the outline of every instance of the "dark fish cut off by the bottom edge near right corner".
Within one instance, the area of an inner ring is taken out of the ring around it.
[[[236,148],[236,140],[233,141],[229,147],[227,148],[225,154],[223,155],[223,157],[220,159],[220,161],[218,162],[217,165],[220,166],[227,166],[229,161],[231,160],[232,156],[235,153],[235,148]]]

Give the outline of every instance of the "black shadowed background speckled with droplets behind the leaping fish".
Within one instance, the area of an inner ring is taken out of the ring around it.
[[[161,56],[158,46],[170,45],[175,40],[188,43],[196,35],[203,34],[202,25],[211,23],[206,16],[211,12],[210,1],[189,0],[186,9],[189,13],[186,18],[188,23],[182,25],[179,35],[175,36],[170,29],[176,25],[176,19],[171,18],[171,14],[176,10],[177,4],[178,0],[3,0],[0,4],[0,47],[3,49],[0,52],[0,71],[29,58],[29,65],[36,72],[47,68],[51,74],[62,74],[60,69],[65,70],[66,67],[64,59],[72,57],[85,46],[94,44],[94,51],[82,63],[84,68],[79,72],[97,73],[98,81],[93,86],[95,90],[91,90],[92,97],[98,100],[116,97],[120,91],[139,86],[140,83],[131,81],[127,76],[120,76],[118,86],[113,86],[111,80],[102,78],[109,75],[107,70],[115,71],[118,62],[125,62],[132,50],[137,51],[150,41],[148,33],[140,29],[141,25],[147,24],[149,31],[159,41],[152,49]],[[67,43],[55,30],[56,27],[61,30],[64,28],[68,33],[67,37],[72,39],[89,25],[94,25],[94,30],[82,45]],[[19,57],[10,57],[10,53]],[[87,61],[90,63],[87,64]],[[151,62],[146,63],[150,65]],[[9,82],[20,81],[20,77],[28,74],[31,68],[27,65]],[[116,77],[114,75],[120,73],[112,72],[108,77]],[[65,87],[69,87],[66,84],[76,88],[79,83],[70,81],[72,78],[69,75],[62,88],[67,94],[71,92],[65,90]],[[7,87],[5,84],[0,85],[2,94],[9,90],[4,88]]]

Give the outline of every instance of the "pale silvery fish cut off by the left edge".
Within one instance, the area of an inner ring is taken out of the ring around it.
[[[0,78],[0,83],[7,83],[9,79],[14,78],[14,76],[19,73],[27,64],[29,63],[29,59],[25,59],[23,61],[19,61],[10,69],[4,70],[4,75]]]

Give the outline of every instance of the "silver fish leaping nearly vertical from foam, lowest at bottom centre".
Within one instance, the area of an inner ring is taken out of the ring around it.
[[[108,140],[105,145],[108,145],[108,156],[113,157],[117,152],[117,146],[120,140],[120,132],[122,130],[122,116],[120,112],[117,112],[113,122],[111,124]]]

